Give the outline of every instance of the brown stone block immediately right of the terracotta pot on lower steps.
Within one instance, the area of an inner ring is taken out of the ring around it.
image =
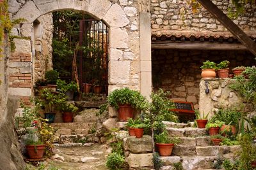
[[[175,145],[172,154],[177,156],[193,156],[196,155],[196,146]]]

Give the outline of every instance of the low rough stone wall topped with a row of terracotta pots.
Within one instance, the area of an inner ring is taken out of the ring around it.
[[[209,94],[205,94],[205,81],[208,82]],[[200,81],[200,113],[211,113],[218,111],[221,107],[241,108],[243,98],[229,85],[236,80],[230,78],[204,78]],[[245,111],[251,111],[251,104],[246,104]]]

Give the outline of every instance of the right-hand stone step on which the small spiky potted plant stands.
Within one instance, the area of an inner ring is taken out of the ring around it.
[[[199,129],[195,127],[185,127],[185,128],[174,128],[167,127],[166,130],[170,137],[197,137],[197,136],[207,136],[207,129]]]

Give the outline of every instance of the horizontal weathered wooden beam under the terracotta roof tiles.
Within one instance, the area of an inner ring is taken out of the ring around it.
[[[248,50],[241,43],[218,42],[177,42],[170,41],[152,42],[152,49],[184,49],[184,50]]]

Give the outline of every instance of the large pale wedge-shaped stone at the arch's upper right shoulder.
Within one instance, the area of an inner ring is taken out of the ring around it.
[[[109,8],[103,20],[109,25],[109,27],[125,27],[130,23],[126,17],[124,10],[115,3]]]

